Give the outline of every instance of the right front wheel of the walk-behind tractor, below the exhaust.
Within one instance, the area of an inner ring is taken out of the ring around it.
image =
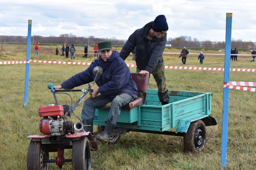
[[[73,140],[72,168],[74,170],[91,169],[91,149],[89,139],[86,136],[81,137],[79,140]]]

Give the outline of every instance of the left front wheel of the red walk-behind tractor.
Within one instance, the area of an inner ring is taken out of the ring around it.
[[[30,141],[27,152],[27,169],[31,170],[49,170],[49,152],[41,142]]]

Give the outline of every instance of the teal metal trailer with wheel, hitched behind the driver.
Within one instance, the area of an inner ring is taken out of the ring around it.
[[[206,144],[206,126],[216,125],[211,114],[212,93],[169,90],[169,104],[161,105],[158,90],[148,89],[146,103],[132,109],[122,109],[110,140],[129,131],[184,137],[187,151],[202,151]],[[106,126],[109,109],[96,109],[93,120],[98,131]],[[167,131],[176,127],[175,131]]]

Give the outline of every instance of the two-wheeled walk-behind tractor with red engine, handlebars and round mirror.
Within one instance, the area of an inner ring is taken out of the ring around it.
[[[94,74],[100,76],[102,68],[95,67]],[[96,78],[95,77],[95,78]],[[91,149],[92,135],[86,132],[85,127],[73,111],[83,100],[88,92],[92,93],[91,86],[88,89],[80,90],[56,90],[53,84],[47,85],[53,93],[56,105],[39,107],[39,130],[43,135],[30,135],[27,153],[28,170],[48,170],[49,163],[56,163],[61,169],[65,162],[72,162],[72,169],[89,170],[91,169]],[[77,100],[74,106],[59,105],[55,93],[67,91],[82,91],[83,95]],[[73,123],[68,121],[74,114],[80,121]],[[75,133],[77,131],[77,133]],[[94,149],[97,149],[97,143],[92,143]],[[72,149],[72,159],[64,158],[64,149]],[[58,152],[54,160],[49,159],[49,152]]]

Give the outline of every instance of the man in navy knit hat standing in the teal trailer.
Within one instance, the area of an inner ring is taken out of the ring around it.
[[[158,98],[162,105],[169,103],[163,62],[167,31],[168,24],[165,16],[158,15],[154,21],[134,31],[119,53],[120,57],[125,60],[136,47],[136,72],[141,77],[146,73],[153,75],[158,87]]]

